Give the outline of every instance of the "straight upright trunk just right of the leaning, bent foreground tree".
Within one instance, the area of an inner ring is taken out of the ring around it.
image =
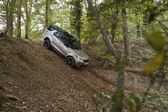
[[[129,38],[128,38],[128,25],[127,25],[127,14],[126,14],[126,1],[122,0],[122,20],[123,20],[123,38],[124,38],[124,50],[126,64],[130,64],[130,48],[129,48]]]

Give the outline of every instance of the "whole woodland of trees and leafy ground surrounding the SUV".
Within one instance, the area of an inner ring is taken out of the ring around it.
[[[167,0],[0,0],[0,11],[2,111],[168,110]],[[78,39],[91,58],[87,68],[67,68],[62,58],[41,46],[42,34],[49,25],[57,25]],[[22,76],[23,79],[14,80],[10,76]],[[15,88],[17,80],[23,81],[29,88],[22,90],[27,91],[25,94],[31,94],[25,104],[24,93],[17,95],[13,92],[24,87],[20,84]],[[30,84],[27,83],[29,81]],[[54,87],[56,81],[58,85]],[[35,91],[31,84],[40,88],[41,93],[40,90]],[[49,86],[54,87],[53,93]],[[69,88],[74,91],[69,91]],[[63,91],[64,96],[60,95],[59,90]],[[38,98],[40,102],[42,97],[39,96],[43,91],[46,99],[41,100],[45,104],[38,105],[34,99]],[[87,103],[83,103],[84,96]],[[30,100],[34,105],[28,104]]]

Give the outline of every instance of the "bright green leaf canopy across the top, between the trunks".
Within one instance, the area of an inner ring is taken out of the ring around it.
[[[16,0],[18,2],[18,0]],[[23,7],[22,7],[22,36],[24,35],[24,26],[25,26],[25,1],[23,0]],[[79,7],[72,8],[72,12],[70,11],[71,6],[77,5],[77,2],[81,2]],[[30,14],[31,21],[30,23],[30,36],[32,34],[32,31],[38,31],[38,29],[35,29],[37,24],[43,24],[45,23],[44,17],[45,17],[45,2],[46,0],[28,0],[28,12]],[[129,25],[129,31],[131,31],[130,37],[135,37],[136,33],[136,24],[142,24],[143,22],[143,15],[144,16],[150,16],[148,19],[156,18],[163,20],[167,20],[167,12],[166,12],[166,6],[167,1],[160,2],[160,1],[132,1],[127,0],[127,12],[128,12],[128,25]],[[32,4],[32,5],[31,5]],[[89,12],[89,9],[86,5],[86,1],[81,0],[49,0],[50,4],[50,13],[49,13],[49,23],[55,24],[59,23],[61,27],[66,29],[67,31],[71,31],[73,35],[77,35],[75,30],[78,30],[80,32],[80,28],[82,30],[81,32],[81,38],[84,38],[83,40],[89,40],[90,38],[97,39],[99,37],[99,30],[97,28],[97,25],[95,23],[95,18],[91,11]],[[95,6],[98,8],[98,12],[101,18],[101,21],[103,21],[103,24],[110,34],[113,31],[112,23],[116,21],[116,19],[113,18],[115,14],[115,0],[103,0],[102,2],[95,1]],[[7,0],[2,0],[0,2],[0,19],[5,23],[6,22],[6,5]],[[121,3],[118,4],[119,7],[119,15],[117,16],[117,29],[115,30],[116,40],[122,40],[122,33],[121,33]],[[15,13],[17,12],[15,8]],[[75,16],[78,12],[78,16]],[[83,12],[83,13],[82,13]],[[81,15],[82,13],[82,15]],[[154,16],[152,15],[154,14]],[[16,14],[15,14],[16,15]],[[70,15],[72,15],[72,20],[70,20]],[[80,18],[81,20],[78,21],[77,18]],[[157,19],[154,19],[157,21]],[[152,19],[153,20],[153,19]],[[17,19],[15,16],[14,23],[16,23]],[[71,25],[73,27],[71,27]],[[80,25],[79,25],[80,24]],[[14,24],[14,28],[16,28]],[[35,27],[34,27],[35,26]],[[156,27],[156,24],[152,24],[152,29],[158,28]],[[15,29],[14,29],[15,30]],[[33,33],[35,34],[35,33]],[[31,37],[30,37],[31,38]],[[40,38],[40,36],[39,36]]]

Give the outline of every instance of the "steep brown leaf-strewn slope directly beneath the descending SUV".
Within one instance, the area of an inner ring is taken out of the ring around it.
[[[89,68],[72,69],[39,43],[1,39],[0,54],[0,85],[6,94],[19,98],[4,109],[89,112],[95,110],[94,94],[113,90]]]

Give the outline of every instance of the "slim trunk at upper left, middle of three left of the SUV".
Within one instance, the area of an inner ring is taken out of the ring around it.
[[[18,10],[17,10],[17,38],[21,38],[21,15],[22,15],[22,0],[18,0]]]

